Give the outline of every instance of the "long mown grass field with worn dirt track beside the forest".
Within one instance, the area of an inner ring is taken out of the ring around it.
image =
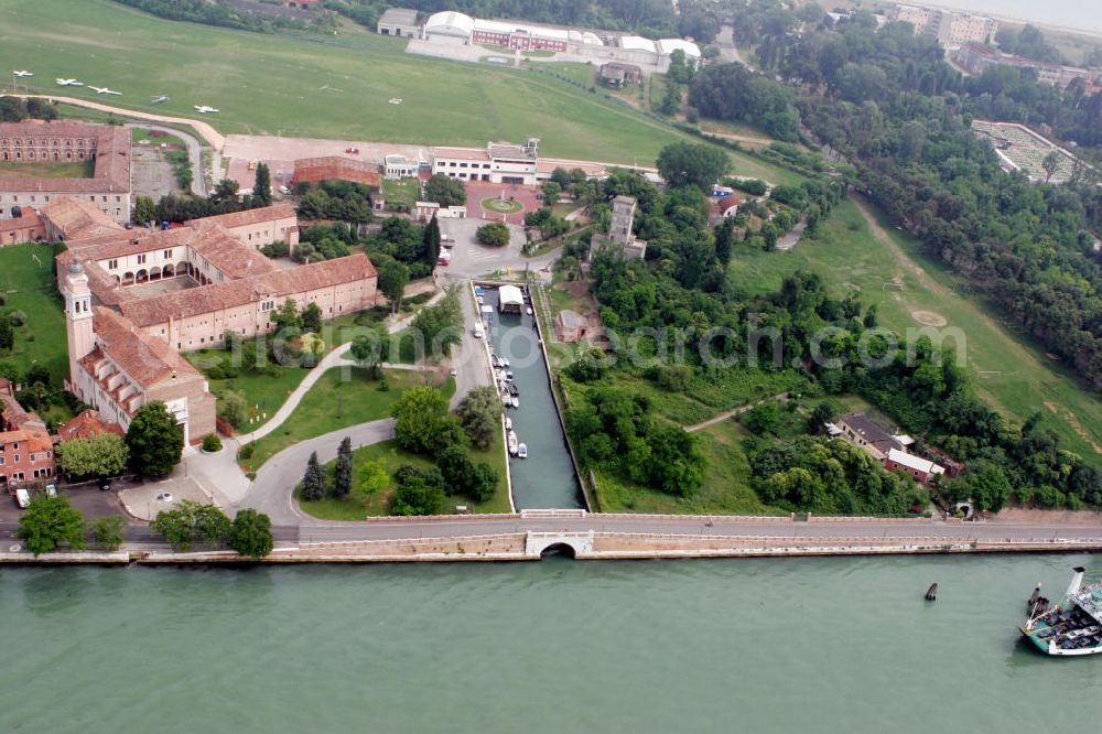
[[[872,209],[871,209],[872,211]],[[905,334],[919,328],[912,313],[929,311],[960,328],[966,339],[968,366],[979,393],[1018,422],[1034,412],[1061,438],[1062,445],[1102,466],[1102,402],[1069,370],[1046,357],[1009,324],[1001,323],[968,283],[926,258],[919,244],[878,220],[898,251],[878,240],[857,206],[845,202],[817,239],[803,240],[789,252],[763,252],[736,247],[730,278],[753,291],[776,289],[799,269],[823,276],[832,293],[861,293],[875,303],[880,325]],[[887,287],[900,279],[903,290]],[[951,342],[947,343],[951,348]]]

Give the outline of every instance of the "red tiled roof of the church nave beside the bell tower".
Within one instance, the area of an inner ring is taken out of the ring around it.
[[[96,306],[93,312],[93,330],[100,341],[104,354],[143,388],[166,379],[199,376],[191,363],[176,354],[168,342],[136,328],[128,319],[110,309]]]

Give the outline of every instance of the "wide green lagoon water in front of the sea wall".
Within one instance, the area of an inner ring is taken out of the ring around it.
[[[0,732],[1098,732],[1015,627],[1077,563],[3,568]]]

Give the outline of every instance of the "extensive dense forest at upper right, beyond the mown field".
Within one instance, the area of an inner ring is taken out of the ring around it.
[[[789,11],[754,6],[750,25],[784,18],[777,28],[790,28]],[[1049,125],[1090,156],[1102,144],[1102,94],[1087,96],[1080,84],[1061,93],[1009,67],[964,79],[933,39],[900,23],[877,30],[861,13],[835,30],[761,31],[755,42],[764,66],[799,83],[803,123],[856,163],[893,219],[1102,387],[1102,268],[1090,234],[1102,226],[1102,190],[1093,171],[1078,166],[1059,187],[1031,184],[1004,173],[969,128],[974,116]]]

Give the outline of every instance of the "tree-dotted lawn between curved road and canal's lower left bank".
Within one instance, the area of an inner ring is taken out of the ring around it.
[[[501,445],[500,436],[497,436],[494,445],[487,451],[472,452],[472,456],[475,461],[489,462],[498,471],[500,483],[498,484],[497,494],[485,503],[476,503],[461,495],[451,495],[444,505],[445,514],[452,512],[456,505],[466,505],[471,512],[478,514],[510,511],[509,487],[505,477],[505,450]],[[353,451],[353,477],[358,477],[359,468],[371,461],[382,462],[383,468],[386,468],[387,474],[391,475],[391,477],[393,477],[395,471],[402,464],[410,464],[421,468],[433,466],[431,458],[399,449],[393,441],[382,441]],[[332,475],[335,467],[336,460],[333,460],[325,464],[324,468]],[[295,490],[295,496],[299,497],[299,506],[302,507],[304,512],[322,520],[363,520],[365,517],[379,517],[390,514],[390,498],[396,488],[392,478],[389,487],[374,495],[367,495],[359,490],[358,478],[354,478],[353,487],[352,494],[342,499],[326,497],[325,499],[307,503],[302,501],[298,490]]]

